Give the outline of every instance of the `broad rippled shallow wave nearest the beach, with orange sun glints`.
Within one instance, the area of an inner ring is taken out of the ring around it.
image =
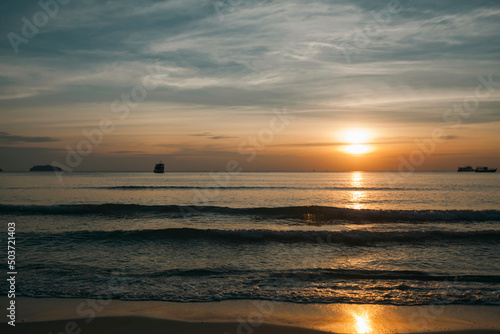
[[[65,263],[66,264],[66,263]],[[88,273],[92,274],[89,275]],[[28,297],[210,302],[260,299],[301,304],[499,305],[498,275],[451,275],[416,270],[231,267],[114,271],[87,266],[23,267],[17,292]],[[97,279],[92,279],[97,277]],[[59,284],[51,284],[57,281]],[[443,293],[446,292],[446,293]]]

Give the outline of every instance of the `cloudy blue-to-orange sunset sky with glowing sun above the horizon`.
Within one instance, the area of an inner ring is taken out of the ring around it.
[[[500,2],[5,0],[0,168],[500,167]]]

